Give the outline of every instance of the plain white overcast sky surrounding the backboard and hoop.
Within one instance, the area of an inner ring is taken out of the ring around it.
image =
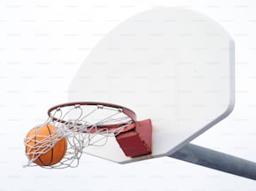
[[[23,138],[65,103],[90,49],[118,23],[156,6],[207,14],[236,43],[233,113],[193,141],[256,162],[256,2],[18,1],[0,3],[0,190],[256,190],[256,183],[173,158],[120,165],[85,156],[78,168],[22,168]]]

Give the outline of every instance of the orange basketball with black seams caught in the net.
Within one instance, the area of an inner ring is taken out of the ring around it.
[[[52,166],[59,163],[67,151],[67,139],[59,138],[56,134],[57,128],[52,124],[46,124],[44,127],[32,128],[26,137],[26,153],[33,163],[39,166]],[[53,135],[53,136],[50,136]],[[44,140],[47,140],[45,143]],[[54,140],[58,141],[54,144]],[[39,154],[41,153],[41,154]]]

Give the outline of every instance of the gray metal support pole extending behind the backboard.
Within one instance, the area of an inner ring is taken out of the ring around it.
[[[256,180],[256,163],[191,143],[169,157]]]

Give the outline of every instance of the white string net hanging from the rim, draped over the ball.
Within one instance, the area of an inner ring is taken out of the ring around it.
[[[103,147],[109,137],[122,132],[133,123],[122,108],[104,105],[70,105],[55,108],[51,111],[46,123],[24,139],[28,163],[25,166],[37,166],[38,158],[66,138],[67,151],[58,162],[50,165],[41,164],[44,168],[77,167],[87,147]],[[40,133],[48,125],[50,134]],[[111,127],[111,128],[110,128]]]

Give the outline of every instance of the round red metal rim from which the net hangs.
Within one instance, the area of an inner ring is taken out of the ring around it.
[[[49,115],[49,117],[51,116],[51,112],[54,111],[55,109],[58,108],[64,108],[64,107],[69,107],[69,106],[75,106],[75,105],[95,105],[95,106],[105,106],[105,107],[110,107],[110,108],[117,108],[117,109],[121,109],[123,113],[125,113],[125,115],[127,115],[129,118],[131,118],[132,123],[130,125],[128,125],[127,127],[125,127],[122,132],[124,131],[129,131],[132,128],[135,128],[136,126],[136,113],[134,111],[132,111],[130,108],[125,108],[123,106],[117,105],[117,104],[113,104],[113,103],[101,103],[101,102],[71,102],[71,103],[61,103],[59,105],[55,105],[52,108],[49,108],[47,114]],[[59,118],[52,118],[54,121],[57,121],[59,123],[67,123],[65,120],[63,119],[59,119]],[[117,124],[109,124],[109,125],[100,125],[97,126],[97,128],[108,128],[109,130],[113,130],[115,128],[119,128],[120,126],[124,125],[124,123],[117,123]]]

